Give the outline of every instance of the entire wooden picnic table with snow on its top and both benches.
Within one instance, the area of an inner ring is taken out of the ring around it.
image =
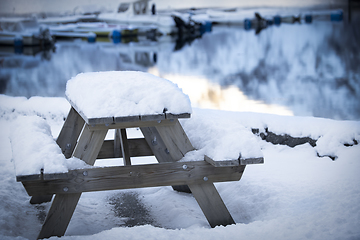
[[[33,203],[56,194],[38,238],[64,235],[82,192],[127,188],[188,188],[212,227],[234,223],[213,183],[240,180],[246,164],[263,162],[249,129],[190,118],[181,89],[143,72],[82,73],[66,97],[72,107],[56,142],[37,117],[19,118],[12,137],[17,180]],[[134,127],[144,138],[127,138]],[[114,140],[104,141],[109,129]],[[160,164],[131,165],[150,155]],[[120,157],[124,166],[92,167]]]

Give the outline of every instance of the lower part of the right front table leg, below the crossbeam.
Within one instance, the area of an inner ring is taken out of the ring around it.
[[[188,186],[211,227],[235,224],[211,181],[201,184],[189,184]]]

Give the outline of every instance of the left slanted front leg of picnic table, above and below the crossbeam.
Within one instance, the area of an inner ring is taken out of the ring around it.
[[[106,133],[107,130],[90,131],[88,126],[85,126],[73,156],[94,165]],[[56,194],[38,239],[65,234],[80,196],[81,193]]]

